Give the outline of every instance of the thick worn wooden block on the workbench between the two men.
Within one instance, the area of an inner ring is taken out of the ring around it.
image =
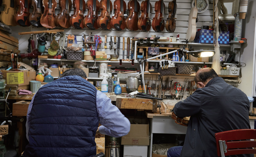
[[[146,109],[152,111],[153,100],[142,98],[116,98],[116,107],[119,109]]]

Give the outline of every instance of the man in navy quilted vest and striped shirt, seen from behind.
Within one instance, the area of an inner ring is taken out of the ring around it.
[[[87,80],[82,69],[69,69],[37,91],[27,112],[23,156],[91,157],[95,136],[129,133],[129,120]]]

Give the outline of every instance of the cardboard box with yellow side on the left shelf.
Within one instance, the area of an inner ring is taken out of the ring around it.
[[[36,71],[21,71],[14,70],[2,70],[3,79],[6,80],[6,85],[9,86],[24,86],[29,85],[32,80],[36,80]]]

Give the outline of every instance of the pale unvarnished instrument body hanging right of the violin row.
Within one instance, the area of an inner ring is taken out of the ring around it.
[[[195,1],[195,6],[196,1]],[[187,28],[186,39],[192,42],[196,37],[196,18],[197,18],[197,7],[193,7],[189,13],[189,27]]]

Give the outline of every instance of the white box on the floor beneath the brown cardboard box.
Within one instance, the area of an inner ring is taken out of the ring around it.
[[[124,157],[147,157],[148,146],[124,145]]]

